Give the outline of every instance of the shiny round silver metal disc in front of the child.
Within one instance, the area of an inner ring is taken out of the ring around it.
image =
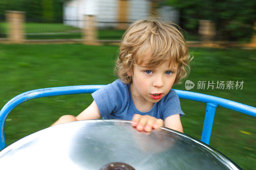
[[[0,152],[1,169],[240,169],[207,144],[168,128],[140,132],[130,121],[65,123],[24,137]],[[114,164],[113,164],[114,166]]]

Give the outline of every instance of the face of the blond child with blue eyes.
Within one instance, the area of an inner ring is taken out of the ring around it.
[[[132,96],[141,102],[158,102],[172,88],[175,81],[178,64],[169,66],[170,61],[165,61],[162,65],[149,69],[146,67],[151,55],[148,53],[143,57],[141,65],[134,65],[133,72],[128,72],[132,77]]]

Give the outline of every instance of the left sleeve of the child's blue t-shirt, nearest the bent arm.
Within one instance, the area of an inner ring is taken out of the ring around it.
[[[119,79],[92,93],[92,98],[99,108],[101,117],[122,109],[122,104],[127,100],[127,96],[129,96],[127,85]]]

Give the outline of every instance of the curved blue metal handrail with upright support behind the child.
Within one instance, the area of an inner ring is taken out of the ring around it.
[[[66,95],[66,94],[92,93],[102,88],[103,86],[105,85],[76,85],[76,86],[44,88],[44,89],[37,89],[37,90],[24,92],[12,98],[10,101],[8,101],[4,105],[4,107],[0,111],[0,124],[1,124],[0,150],[6,146],[5,137],[4,137],[4,124],[5,124],[6,118],[9,115],[9,113],[12,111],[12,109],[18,106],[20,103],[23,103],[30,99],[35,99],[40,97],[58,96],[58,95]],[[196,92],[188,92],[188,91],[182,91],[182,90],[175,90],[175,92],[177,92],[178,96],[181,99],[195,100],[195,101],[206,103],[204,127],[203,127],[203,132],[201,137],[201,141],[206,144],[209,144],[210,142],[212,124],[213,124],[216,107],[218,106],[225,107],[231,110],[235,110],[235,111],[256,117],[255,107],[251,107],[235,101],[226,100],[219,97],[196,93]]]

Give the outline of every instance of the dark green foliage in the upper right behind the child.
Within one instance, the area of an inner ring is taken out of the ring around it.
[[[181,26],[187,30],[196,31],[199,19],[214,21],[217,40],[249,41],[254,32],[254,0],[166,0],[165,3],[180,10]]]

